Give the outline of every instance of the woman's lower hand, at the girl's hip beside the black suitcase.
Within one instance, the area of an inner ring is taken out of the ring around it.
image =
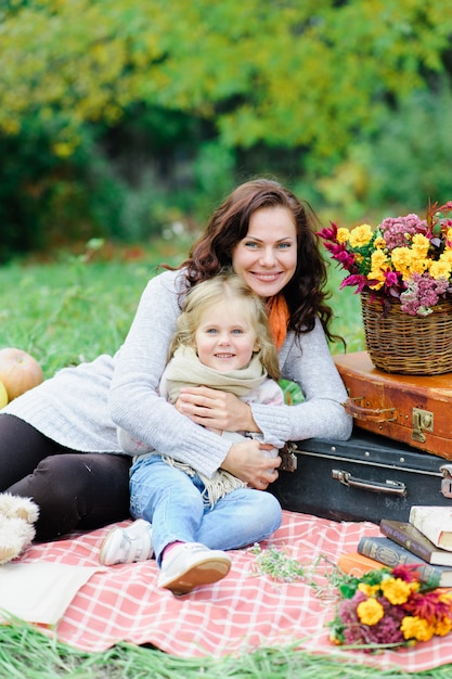
[[[266,490],[279,476],[276,469],[281,464],[281,458],[269,458],[262,452],[264,448],[253,438],[233,444],[221,467],[251,488]]]

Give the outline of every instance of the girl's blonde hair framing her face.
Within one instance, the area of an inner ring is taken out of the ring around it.
[[[209,307],[224,299],[237,299],[256,333],[260,360],[273,380],[280,376],[276,348],[270,333],[266,306],[253,290],[232,270],[220,271],[214,278],[192,287],[178,318],[176,333],[169,347],[169,358],[179,346],[193,346],[201,317]]]

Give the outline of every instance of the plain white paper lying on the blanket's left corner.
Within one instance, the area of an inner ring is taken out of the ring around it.
[[[0,566],[0,610],[28,623],[55,625],[80,587],[101,569],[44,561],[4,564]]]

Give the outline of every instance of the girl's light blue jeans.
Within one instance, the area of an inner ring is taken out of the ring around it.
[[[210,549],[238,549],[269,537],[281,525],[281,505],[263,490],[236,488],[211,507],[204,484],[164,462],[139,460],[130,475],[130,513],[153,524],[157,563],[167,545],[202,542]]]

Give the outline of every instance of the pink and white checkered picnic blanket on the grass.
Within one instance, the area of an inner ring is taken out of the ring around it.
[[[99,566],[98,554],[107,530],[34,545],[20,561]],[[305,581],[282,584],[256,574],[256,555],[247,549],[231,552],[233,565],[223,580],[181,598],[156,587],[154,560],[102,566],[78,590],[56,628],[47,633],[56,633],[60,641],[83,651],[103,651],[126,641],[196,657],[240,655],[258,646],[296,643],[310,653],[335,654],[382,669],[419,671],[452,663],[452,635],[375,656],[330,644],[326,624],[334,617],[334,602],[323,556],[335,563],[343,552],[354,551],[363,535],[378,534],[371,523],[336,523],[284,512],[282,527],[261,543],[261,550],[271,546],[284,550],[307,566],[319,588]]]

